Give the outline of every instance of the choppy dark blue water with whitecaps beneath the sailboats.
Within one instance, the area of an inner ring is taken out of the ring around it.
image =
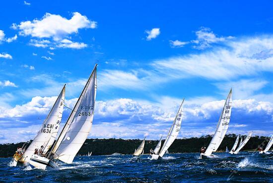
[[[57,171],[11,167],[11,158],[0,158],[0,182],[273,182],[273,155],[215,154],[220,158],[199,159],[197,153],[168,154],[163,160],[149,160],[148,155],[76,157],[73,164],[60,163]]]

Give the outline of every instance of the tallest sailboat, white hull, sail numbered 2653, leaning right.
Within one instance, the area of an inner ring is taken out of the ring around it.
[[[56,163],[57,160],[61,160],[67,164],[72,163],[74,157],[91,131],[96,90],[97,64],[81,91],[52,150],[46,155],[33,154],[29,161],[29,164],[32,167],[44,170],[47,168],[58,168]]]

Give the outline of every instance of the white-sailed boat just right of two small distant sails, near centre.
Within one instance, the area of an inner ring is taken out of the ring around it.
[[[151,160],[157,160],[158,158],[162,158],[163,155],[166,153],[168,148],[172,145],[176,137],[178,136],[178,133],[181,128],[181,123],[182,123],[182,112],[183,112],[183,103],[184,99],[179,107],[179,110],[176,114],[176,117],[174,119],[173,125],[167,135],[167,138],[158,154],[153,154],[151,155]]]

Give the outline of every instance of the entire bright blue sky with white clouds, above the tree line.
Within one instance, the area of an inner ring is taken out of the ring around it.
[[[272,6],[269,0],[1,2],[0,143],[32,139],[64,84],[72,107],[95,63],[90,138],[158,139],[183,97],[179,138],[212,134],[230,88],[228,133],[272,134]]]

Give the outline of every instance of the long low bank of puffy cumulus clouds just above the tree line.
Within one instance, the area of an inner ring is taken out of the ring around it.
[[[14,130],[14,125],[10,125],[12,120],[17,121],[15,127],[20,130],[29,131],[29,128],[32,127],[33,131],[37,131],[41,124],[37,116],[40,116],[41,119],[46,117],[56,98],[57,96],[35,96],[26,104],[9,108],[0,106],[0,128],[5,127],[7,131]],[[68,99],[66,105],[73,107],[75,102],[76,98]],[[166,136],[179,108],[179,102],[174,100],[171,106],[162,108],[164,104],[161,103],[137,101],[130,98],[99,100],[95,104],[93,128],[89,137],[143,138],[144,135],[147,135],[149,139],[156,139],[160,135]],[[212,134],[223,104],[224,100],[196,105],[189,105],[186,102],[179,138]],[[69,112],[66,109],[62,123],[65,122]],[[272,112],[273,103],[271,102],[255,99],[233,100],[228,133],[244,134],[247,130],[254,130],[257,135],[270,134],[272,128],[268,126],[264,128],[265,125],[262,124],[272,122]],[[261,118],[268,121],[258,122],[257,119]],[[257,126],[257,123],[261,125]],[[3,135],[6,137],[5,142],[11,142],[8,133],[3,133]],[[32,139],[34,136],[35,133],[28,138]]]

